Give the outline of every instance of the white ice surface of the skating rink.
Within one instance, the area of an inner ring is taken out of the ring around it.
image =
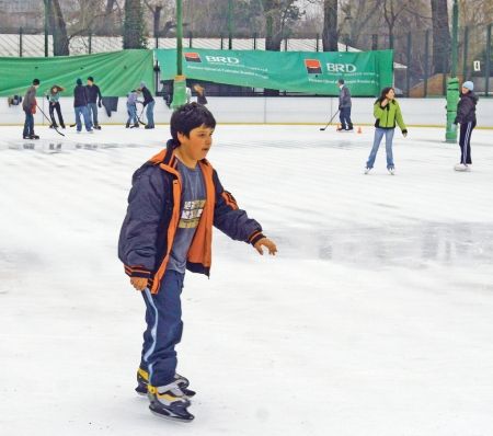
[[[490,436],[493,131],[218,126],[209,160],[277,257],[215,233],[187,274],[191,424],[134,393],[144,301],[116,256],[134,170],[168,138],[0,128],[1,435]]]

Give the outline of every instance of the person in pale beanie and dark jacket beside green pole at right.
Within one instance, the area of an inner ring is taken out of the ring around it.
[[[454,124],[460,124],[460,163],[454,167],[456,171],[470,171],[471,160],[471,134],[475,127],[475,105],[478,95],[474,94],[474,83],[462,83],[460,100],[457,104],[457,116]]]

